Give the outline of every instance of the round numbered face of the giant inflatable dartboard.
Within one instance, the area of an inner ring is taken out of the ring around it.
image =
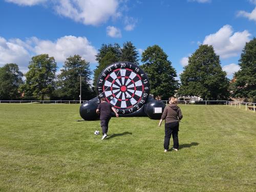
[[[144,71],[130,62],[117,62],[106,67],[97,82],[99,97],[120,114],[132,113],[147,101],[150,83]]]

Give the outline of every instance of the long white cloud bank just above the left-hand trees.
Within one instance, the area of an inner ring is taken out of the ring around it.
[[[62,63],[66,58],[78,54],[86,61],[96,63],[97,50],[86,37],[64,36],[56,41],[36,37],[26,41],[0,37],[0,67],[6,63],[16,63],[23,71],[27,70],[31,57],[39,54],[49,54],[56,62]]]

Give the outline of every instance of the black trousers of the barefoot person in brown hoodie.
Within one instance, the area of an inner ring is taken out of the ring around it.
[[[179,147],[179,138],[178,138],[178,131],[179,131],[179,122],[172,122],[165,124],[165,136],[164,136],[164,149],[169,149],[170,144],[170,136],[173,135],[174,140],[174,148],[178,149]]]

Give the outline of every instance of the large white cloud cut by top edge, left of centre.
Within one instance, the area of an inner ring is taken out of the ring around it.
[[[59,15],[71,18],[84,25],[98,26],[111,17],[120,17],[118,0],[6,0],[23,6],[48,2]]]

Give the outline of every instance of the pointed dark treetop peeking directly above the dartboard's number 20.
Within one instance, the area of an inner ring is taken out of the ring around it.
[[[123,43],[121,61],[129,61],[138,65],[138,57],[138,51],[131,41]]]

